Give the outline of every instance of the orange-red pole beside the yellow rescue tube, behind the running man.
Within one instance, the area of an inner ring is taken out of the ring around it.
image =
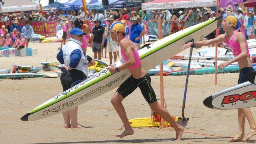
[[[162,20],[158,17],[158,39],[162,39]],[[164,108],[164,98],[163,98],[163,63],[160,64],[160,96],[161,96],[161,107]],[[161,128],[165,127],[165,120],[161,118]]]

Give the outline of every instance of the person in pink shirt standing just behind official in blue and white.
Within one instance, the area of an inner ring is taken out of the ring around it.
[[[93,35],[90,37],[89,26],[87,24],[82,25],[82,32],[86,34],[83,35],[81,48],[83,49],[83,52],[86,54],[87,46],[91,47],[91,42],[93,42]]]

